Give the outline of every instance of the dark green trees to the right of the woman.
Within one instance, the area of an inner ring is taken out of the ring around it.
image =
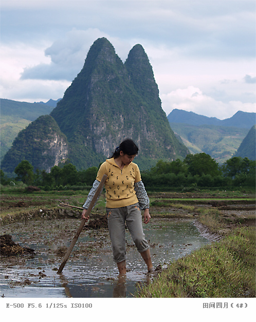
[[[223,165],[205,153],[189,154],[172,162],[158,161],[143,173],[143,183],[151,190],[182,188],[255,188],[255,160],[233,157]]]

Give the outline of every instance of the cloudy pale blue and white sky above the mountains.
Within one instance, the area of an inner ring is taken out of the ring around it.
[[[106,37],[124,62],[141,44],[162,108],[230,118],[256,111],[254,0],[1,0],[1,98],[63,97]]]

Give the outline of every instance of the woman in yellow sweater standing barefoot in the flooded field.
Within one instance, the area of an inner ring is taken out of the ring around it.
[[[112,241],[114,261],[120,274],[126,274],[125,222],[133,241],[148,267],[153,272],[148,242],[145,240],[141,212],[144,211],[144,223],[150,221],[149,197],[141,181],[139,167],[132,161],[138,153],[138,147],[130,140],[124,140],[115,149],[113,156],[101,164],[96,180],[83,205],[82,219],[87,219],[86,210],[99,186],[102,176],[105,181],[106,212],[109,236]]]

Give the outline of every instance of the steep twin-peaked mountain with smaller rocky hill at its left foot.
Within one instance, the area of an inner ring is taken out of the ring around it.
[[[65,162],[78,170],[98,166],[125,138],[137,143],[135,161],[141,169],[160,159],[183,159],[189,153],[161,108],[143,47],[135,45],[123,63],[112,44],[100,38],[56,108],[16,137],[2,169],[11,173],[24,159],[46,172]]]

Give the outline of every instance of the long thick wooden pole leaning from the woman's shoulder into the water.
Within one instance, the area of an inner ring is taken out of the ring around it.
[[[92,211],[93,206],[94,206],[95,202],[97,201],[98,196],[100,195],[101,190],[102,190],[102,188],[103,188],[103,186],[104,186],[104,183],[105,183],[105,181],[106,181],[106,177],[107,177],[106,175],[104,175],[104,176],[102,177],[102,179],[101,179],[101,181],[100,181],[100,184],[99,184],[99,186],[98,186],[98,188],[97,188],[97,190],[96,190],[96,192],[95,192],[95,195],[94,195],[94,197],[93,197],[93,200],[90,202],[89,207],[88,207],[88,209],[87,209],[87,211],[86,211],[86,217],[87,217],[87,216],[89,216],[90,212]],[[79,237],[79,235],[80,235],[81,231],[83,230],[83,226],[84,226],[85,222],[86,222],[86,219],[82,219],[82,221],[81,221],[81,223],[80,223],[80,226],[79,226],[79,228],[78,228],[78,230],[77,230],[77,233],[76,233],[76,235],[75,235],[74,239],[72,240],[72,242],[70,243],[70,246],[69,246],[69,248],[68,248],[68,250],[67,250],[67,252],[66,252],[65,256],[63,257],[63,261],[62,261],[62,263],[61,263],[61,265],[60,265],[60,267],[59,267],[59,270],[58,270],[57,274],[60,274],[60,273],[62,272],[62,270],[63,270],[63,268],[64,268],[64,266],[65,266],[65,264],[66,264],[66,262],[67,262],[67,260],[68,260],[68,257],[69,257],[69,255],[70,255],[70,253],[71,253],[72,249],[74,248],[75,243],[77,242],[78,237]]]

